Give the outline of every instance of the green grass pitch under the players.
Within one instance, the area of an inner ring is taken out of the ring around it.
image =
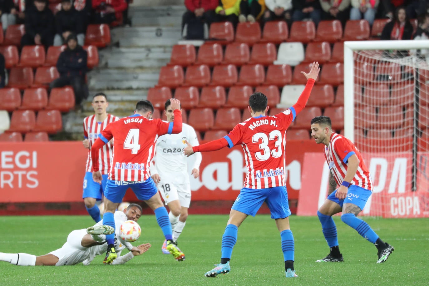
[[[152,244],[142,256],[124,265],[103,265],[98,256],[91,265],[22,267],[0,262],[0,285],[428,285],[429,220],[365,218],[395,251],[376,264],[377,250],[335,217],[344,263],[315,263],[329,249],[317,217],[290,217],[295,237],[298,278],[284,277],[280,235],[269,215],[248,217],[240,226],[231,259],[231,272],[204,277],[219,263],[221,237],[227,215],[190,215],[179,247],[186,260],[176,262],[161,253],[163,235],[153,215],[139,224],[135,245]],[[0,252],[43,255],[62,246],[74,229],[91,226],[89,216],[0,217]],[[125,250],[127,252],[127,250]]]

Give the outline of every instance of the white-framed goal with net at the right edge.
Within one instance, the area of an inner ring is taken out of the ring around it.
[[[429,40],[344,42],[344,135],[374,183],[364,215],[429,217]]]

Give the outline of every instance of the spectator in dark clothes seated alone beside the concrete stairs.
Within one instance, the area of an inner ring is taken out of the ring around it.
[[[60,54],[57,70],[60,77],[52,81],[50,88],[71,85],[75,92],[76,109],[81,108],[83,99],[88,98],[88,86],[85,83],[87,52],[78,45],[75,34],[67,38],[67,48]]]

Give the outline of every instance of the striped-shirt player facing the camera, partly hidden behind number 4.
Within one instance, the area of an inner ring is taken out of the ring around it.
[[[99,92],[92,97],[93,115],[85,117],[83,120],[83,133],[85,139],[82,141],[83,146],[88,150],[88,159],[86,160],[85,177],[83,179],[83,194],[82,198],[85,203],[85,208],[88,214],[97,223],[101,220],[100,209],[96,204],[100,201],[104,189],[106,188],[107,173],[110,169],[110,160],[112,159],[112,142],[108,142],[101,148],[99,155],[100,171],[102,176],[101,185],[94,182],[92,179],[92,162],[91,162],[91,145],[97,139],[98,134],[107,126],[107,124],[116,121],[119,117],[106,112],[109,102],[107,102],[106,94]]]

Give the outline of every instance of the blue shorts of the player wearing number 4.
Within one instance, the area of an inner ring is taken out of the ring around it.
[[[120,203],[124,199],[125,192],[131,188],[137,199],[145,201],[158,193],[157,186],[152,178],[146,181],[113,181],[107,180],[104,196],[111,202]]]

